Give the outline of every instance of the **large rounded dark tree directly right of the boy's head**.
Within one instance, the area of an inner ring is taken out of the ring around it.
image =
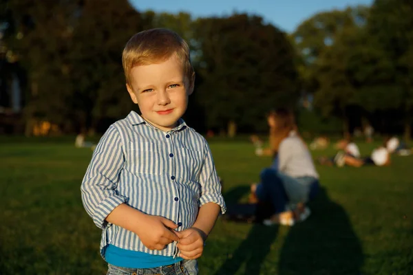
[[[253,131],[264,113],[295,106],[294,51],[286,34],[261,17],[233,14],[194,23],[194,64],[209,129]]]

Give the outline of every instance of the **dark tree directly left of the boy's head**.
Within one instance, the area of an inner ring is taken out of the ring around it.
[[[134,108],[125,87],[122,51],[133,34],[152,27],[151,21],[151,14],[140,14],[126,0],[87,0],[80,6],[70,72],[76,83],[74,109],[83,126],[103,131]]]

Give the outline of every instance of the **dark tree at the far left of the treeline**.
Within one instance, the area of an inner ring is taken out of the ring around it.
[[[23,64],[28,78],[25,119],[28,131],[33,120],[65,124],[70,115],[72,83],[67,74],[71,19],[76,3],[28,0],[7,1],[10,53]]]

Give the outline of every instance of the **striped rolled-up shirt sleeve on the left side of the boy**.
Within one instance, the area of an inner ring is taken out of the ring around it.
[[[81,185],[83,206],[98,228],[107,226],[106,217],[127,197],[116,191],[125,157],[120,135],[110,126],[94,149]]]

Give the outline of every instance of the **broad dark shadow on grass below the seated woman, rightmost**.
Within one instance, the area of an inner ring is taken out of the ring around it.
[[[361,274],[363,251],[346,211],[330,200],[325,188],[310,208],[308,220],[288,232],[278,274]]]

